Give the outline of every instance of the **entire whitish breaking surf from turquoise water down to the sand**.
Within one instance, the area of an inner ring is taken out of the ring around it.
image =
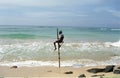
[[[52,42],[1,40],[0,43],[0,65],[57,66],[58,54]],[[64,43],[61,60],[62,66],[119,64],[120,41]]]

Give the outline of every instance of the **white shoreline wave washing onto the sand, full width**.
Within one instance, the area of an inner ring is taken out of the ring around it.
[[[72,67],[86,67],[86,66],[100,66],[100,65],[119,65],[120,57],[115,56],[110,60],[94,61],[90,59],[78,59],[78,60],[66,60],[61,61],[61,66],[72,66]],[[55,66],[58,67],[58,61],[21,61],[21,62],[3,62],[0,66],[26,66],[26,67],[36,67],[36,66]]]

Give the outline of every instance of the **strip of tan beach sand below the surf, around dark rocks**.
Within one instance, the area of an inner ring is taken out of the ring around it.
[[[85,74],[86,78],[90,78],[95,76],[95,78],[119,78],[120,75],[110,73],[90,73],[87,70],[92,68],[104,68],[105,66],[97,66],[97,67],[81,67],[81,68],[73,68],[73,67],[18,67],[11,68],[0,66],[0,77],[3,78],[79,78],[81,74]],[[70,74],[65,74],[65,72],[72,72]]]

